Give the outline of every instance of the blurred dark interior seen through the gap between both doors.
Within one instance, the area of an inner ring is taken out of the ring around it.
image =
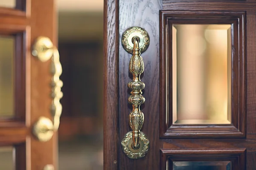
[[[103,170],[103,0],[58,0],[60,170]]]

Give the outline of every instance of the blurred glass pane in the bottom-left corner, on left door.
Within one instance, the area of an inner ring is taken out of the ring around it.
[[[0,147],[0,170],[15,169],[15,150],[13,147]]]

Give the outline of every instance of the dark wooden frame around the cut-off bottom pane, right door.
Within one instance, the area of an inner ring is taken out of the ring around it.
[[[173,170],[173,161],[231,161],[232,170],[245,169],[246,149],[166,150],[161,149],[160,170]],[[168,163],[166,163],[168,162]]]

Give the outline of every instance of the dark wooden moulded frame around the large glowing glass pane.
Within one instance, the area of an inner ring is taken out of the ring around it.
[[[217,11],[160,11],[160,137],[245,137],[246,73],[245,13]],[[172,114],[172,24],[231,24],[231,124],[175,125]],[[169,87],[169,88],[166,88]]]

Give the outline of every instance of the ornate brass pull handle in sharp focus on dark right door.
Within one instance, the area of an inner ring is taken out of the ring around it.
[[[131,30],[142,30],[142,28],[129,28],[128,32],[133,34]],[[133,55],[129,63],[129,71],[133,75],[133,80],[128,83],[128,88],[131,90],[131,96],[128,97],[128,102],[133,106],[133,109],[129,114],[129,125],[132,131],[128,132],[124,139],[122,139],[122,149],[124,153],[131,159],[139,159],[144,157],[149,148],[149,140],[145,134],[140,131],[144,122],[144,114],[142,111],[140,111],[140,105],[145,102],[145,98],[142,96],[142,90],[145,88],[145,84],[140,81],[140,75],[144,71],[143,58],[140,56],[140,37],[144,37],[143,41],[145,39],[147,40],[146,43],[143,43],[144,45],[149,44],[149,37],[147,32],[143,30],[143,33],[146,34],[146,36],[136,32],[134,37],[126,38],[128,34],[126,31],[122,37],[122,42],[125,40],[129,41],[131,39],[133,43]],[[124,42],[123,44],[129,43]],[[144,46],[144,50],[146,48],[147,47]],[[128,48],[125,48],[125,50],[129,52]]]

